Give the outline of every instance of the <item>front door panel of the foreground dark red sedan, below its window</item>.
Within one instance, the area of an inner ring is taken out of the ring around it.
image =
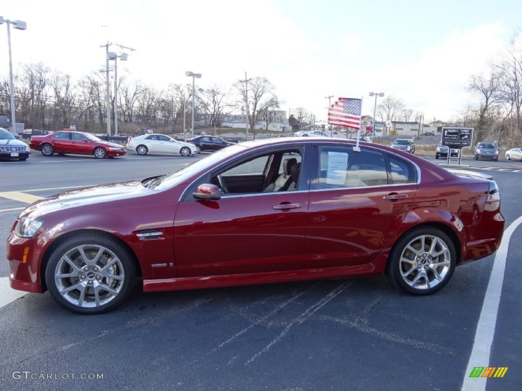
[[[179,276],[299,270],[308,197],[281,192],[181,202],[174,221]],[[293,205],[277,209],[281,204]]]

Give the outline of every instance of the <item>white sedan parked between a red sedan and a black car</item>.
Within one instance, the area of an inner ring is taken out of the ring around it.
[[[160,154],[160,155],[182,155],[190,156],[196,154],[196,145],[174,140],[166,135],[152,133],[133,137],[127,142],[127,150],[136,151],[138,155]]]

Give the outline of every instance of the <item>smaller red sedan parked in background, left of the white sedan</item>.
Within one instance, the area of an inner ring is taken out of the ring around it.
[[[41,151],[44,156],[52,156],[55,153],[94,155],[98,159],[105,157],[123,156],[127,153],[121,145],[100,140],[90,133],[76,131],[60,131],[46,136],[32,136],[29,148]]]

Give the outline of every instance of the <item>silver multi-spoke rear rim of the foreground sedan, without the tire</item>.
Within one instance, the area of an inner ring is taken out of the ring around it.
[[[451,253],[447,244],[436,236],[422,235],[411,240],[399,260],[402,279],[413,289],[430,289],[448,276]]]

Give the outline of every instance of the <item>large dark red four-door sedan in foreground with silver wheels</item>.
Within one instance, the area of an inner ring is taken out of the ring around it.
[[[100,313],[145,291],[386,273],[413,295],[499,248],[495,181],[387,146],[250,141],[169,175],[29,205],[7,239],[11,287]]]

